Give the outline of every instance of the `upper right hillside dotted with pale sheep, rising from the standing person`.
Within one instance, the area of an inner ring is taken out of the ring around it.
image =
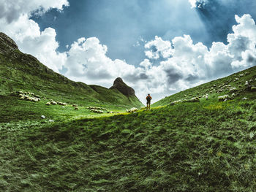
[[[243,76],[240,76],[244,74]],[[178,92],[171,96],[167,96],[165,99],[161,99],[156,103],[152,104],[153,107],[164,106],[170,104],[173,101],[191,99],[192,97],[201,97],[208,94],[209,97],[217,98],[224,94],[229,94],[231,96],[229,88],[227,85],[230,85],[231,88],[237,88],[236,95],[239,95],[243,92],[246,87],[244,86],[246,81],[253,80],[252,85],[256,86],[256,66],[253,66],[249,69],[246,69],[242,72],[237,72],[228,77],[224,77],[218,80],[213,80],[211,82],[206,82],[202,85],[198,85],[195,88],[189,88],[185,91]]]

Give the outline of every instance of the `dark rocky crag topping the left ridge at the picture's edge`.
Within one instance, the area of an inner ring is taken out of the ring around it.
[[[7,54],[18,50],[18,45],[6,34],[0,32],[0,53]]]

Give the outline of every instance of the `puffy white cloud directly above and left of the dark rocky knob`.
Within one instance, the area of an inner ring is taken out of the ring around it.
[[[112,60],[106,56],[108,47],[101,45],[99,39],[80,38],[67,52],[67,77],[88,84],[110,86],[116,77],[128,77],[135,74],[135,66],[119,59]]]

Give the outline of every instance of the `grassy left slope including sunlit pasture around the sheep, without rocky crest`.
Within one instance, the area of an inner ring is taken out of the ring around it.
[[[20,101],[18,97],[10,96],[11,91],[29,91],[46,99],[37,103]],[[73,112],[74,109],[70,107],[44,106],[49,99],[69,105],[97,106],[117,111],[143,106],[137,98],[127,98],[119,91],[73,82],[19,50],[9,55],[0,54],[0,122],[37,120],[41,115],[55,120],[75,118],[81,114],[93,115],[85,109]]]

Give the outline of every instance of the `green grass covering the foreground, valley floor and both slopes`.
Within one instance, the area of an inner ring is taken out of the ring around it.
[[[252,67],[129,114],[136,97],[72,82],[18,50],[0,54],[0,191],[255,191],[256,94],[238,88],[255,78]],[[238,88],[233,100],[218,101],[230,94],[213,91],[222,84]],[[20,90],[45,99],[10,95]]]

